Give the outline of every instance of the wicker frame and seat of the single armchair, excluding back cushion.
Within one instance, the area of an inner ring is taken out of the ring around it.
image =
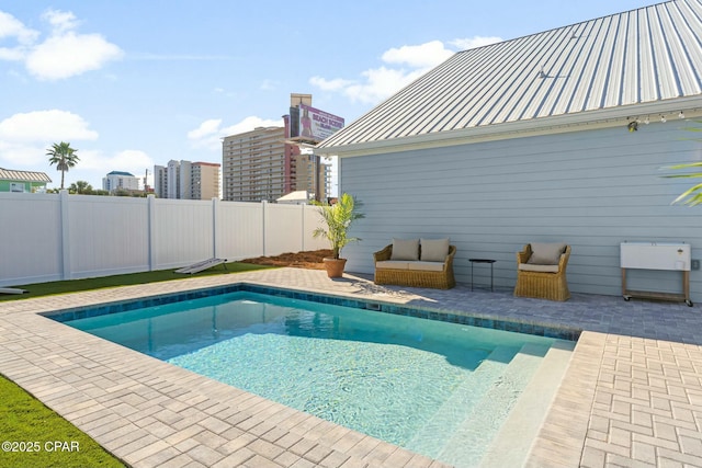
[[[557,265],[529,264],[528,261],[532,253],[530,243],[524,246],[524,250],[517,252],[514,296],[568,300],[570,290],[568,290],[568,279],[566,278],[566,266],[570,258],[570,246],[566,246]]]

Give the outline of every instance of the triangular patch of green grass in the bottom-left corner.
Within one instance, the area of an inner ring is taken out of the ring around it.
[[[125,467],[75,425],[3,376],[0,376],[0,467]]]

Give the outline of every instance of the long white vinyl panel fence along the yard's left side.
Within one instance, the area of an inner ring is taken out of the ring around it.
[[[327,249],[318,208],[0,193],[0,287]]]

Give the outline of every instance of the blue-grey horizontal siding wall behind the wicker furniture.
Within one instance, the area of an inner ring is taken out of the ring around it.
[[[702,142],[668,121],[532,136],[340,160],[340,191],[363,203],[344,248],[348,271],[373,272],[373,252],[397,238],[450,237],[458,282],[469,283],[469,258],[495,263],[495,285],[513,287],[516,252],[528,242],[573,247],[573,292],[621,294],[620,242],[684,241],[702,258],[700,207],[671,205],[692,182],[663,168],[702,159]],[[699,125],[698,125],[699,126]],[[489,267],[475,265],[475,283]],[[693,300],[702,273],[692,271]],[[680,272],[630,271],[630,289],[681,292]]]

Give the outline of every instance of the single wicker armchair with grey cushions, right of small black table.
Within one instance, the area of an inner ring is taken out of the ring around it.
[[[517,252],[514,296],[550,300],[568,300],[570,290],[566,266],[570,246],[565,243],[528,243]]]

